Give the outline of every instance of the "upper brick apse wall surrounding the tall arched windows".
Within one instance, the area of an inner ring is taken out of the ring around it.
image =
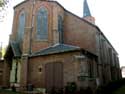
[[[37,40],[36,39],[36,15],[39,8],[45,7],[48,10],[48,39],[47,40]],[[28,52],[30,46],[30,37],[32,37],[31,41],[31,49],[32,52],[38,51],[42,48],[46,48],[53,43],[55,43],[54,37],[58,30],[58,15],[60,14],[63,17],[63,8],[61,8],[58,4],[53,2],[46,1],[35,1],[35,5],[33,7],[32,0],[26,1],[14,8],[14,20],[13,20],[13,29],[11,34],[11,40],[16,40],[16,35],[18,32],[18,19],[21,11],[25,11],[26,13],[26,24],[25,24],[25,37],[23,40],[22,50],[24,53]],[[31,29],[33,23],[33,28]],[[32,32],[32,36],[30,33]],[[56,33],[54,33],[56,32]],[[58,37],[57,37],[58,38]]]

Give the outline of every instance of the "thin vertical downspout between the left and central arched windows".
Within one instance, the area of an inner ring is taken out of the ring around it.
[[[35,5],[35,0],[32,1],[33,5],[32,5],[32,19],[31,19],[31,31],[30,31],[30,41],[29,41],[29,55],[31,55],[32,53],[32,32],[33,32],[33,26],[34,26],[34,5]]]

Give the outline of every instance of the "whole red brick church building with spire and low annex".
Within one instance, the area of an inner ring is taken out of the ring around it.
[[[95,25],[87,0],[82,18],[53,0],[16,5],[3,73],[2,86],[21,90],[72,82],[96,88],[121,78],[118,53]]]

